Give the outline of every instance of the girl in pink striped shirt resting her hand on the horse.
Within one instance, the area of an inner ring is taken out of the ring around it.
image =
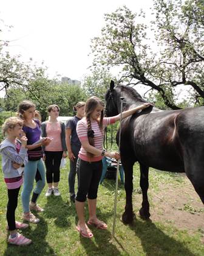
[[[149,107],[149,104],[143,104],[127,110],[121,114],[122,119],[146,107]],[[87,227],[84,219],[86,196],[89,205],[89,221],[87,224],[94,225],[98,229],[107,229],[106,223],[100,221],[96,215],[98,185],[103,168],[102,158],[104,156],[115,159],[120,158],[117,152],[106,152],[103,150],[104,127],[120,120],[120,115],[104,118],[103,108],[104,104],[100,99],[95,96],[89,98],[85,105],[85,118],[78,121],[77,124],[77,135],[81,141],[81,149],[77,161],[77,230],[82,236],[87,238],[92,238],[93,234]]]

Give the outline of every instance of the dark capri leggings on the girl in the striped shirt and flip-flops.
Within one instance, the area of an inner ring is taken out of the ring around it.
[[[85,202],[86,196],[88,199],[97,198],[98,185],[101,179],[102,168],[102,160],[97,162],[87,162],[78,158],[78,191],[76,197],[78,202]]]

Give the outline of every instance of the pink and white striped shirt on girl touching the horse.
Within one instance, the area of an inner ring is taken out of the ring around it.
[[[92,130],[94,130],[94,147],[95,148],[100,149],[101,151],[103,150],[104,128],[106,126],[109,126],[109,124],[114,124],[114,123],[115,123],[114,117],[103,118],[103,132],[101,132],[100,127],[98,126],[98,122],[97,121],[91,122]],[[77,123],[77,135],[81,142],[88,140],[87,131],[88,131],[87,121],[86,121],[86,118],[83,118]],[[87,156],[87,152],[83,148],[83,146],[81,146],[78,157],[84,161],[89,161],[89,162],[100,161],[103,158],[101,155],[99,155],[99,156],[94,156],[90,159]]]

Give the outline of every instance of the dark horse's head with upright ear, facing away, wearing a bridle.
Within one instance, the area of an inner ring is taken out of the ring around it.
[[[118,115],[117,93],[114,90],[114,81],[110,81],[110,88],[106,91],[106,116]]]

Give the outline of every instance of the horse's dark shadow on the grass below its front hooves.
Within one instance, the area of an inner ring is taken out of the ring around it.
[[[166,235],[151,220],[135,219],[134,224],[129,227],[140,238],[145,255],[195,255],[182,243]]]

